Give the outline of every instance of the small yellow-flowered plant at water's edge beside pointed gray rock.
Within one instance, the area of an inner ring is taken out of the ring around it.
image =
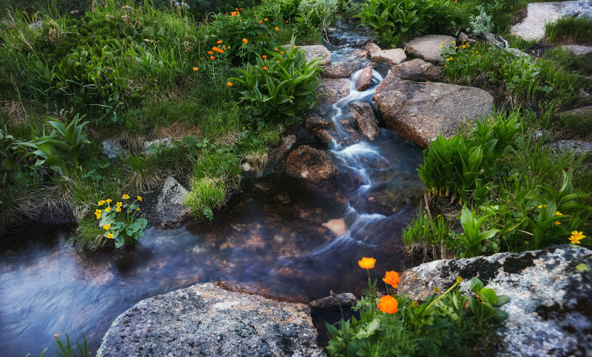
[[[145,218],[135,217],[140,210],[141,196],[137,196],[132,203],[127,194],[121,199],[116,203],[111,199],[100,200],[94,212],[100,228],[105,231],[103,237],[113,239],[115,248],[138,241],[148,225]]]

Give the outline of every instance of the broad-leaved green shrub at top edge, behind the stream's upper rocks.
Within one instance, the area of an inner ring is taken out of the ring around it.
[[[430,27],[446,25],[450,3],[447,0],[366,0],[357,17],[381,42],[396,47]]]

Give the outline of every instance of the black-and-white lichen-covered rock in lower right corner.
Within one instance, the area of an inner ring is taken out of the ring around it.
[[[467,292],[469,279],[477,276],[486,287],[510,297],[501,306],[508,319],[499,328],[507,346],[500,356],[590,356],[591,256],[592,251],[570,245],[520,254],[437,260],[405,271],[398,292],[423,300],[434,287],[444,291],[457,276],[465,278],[460,288]],[[578,264],[584,264],[584,269],[577,269]]]

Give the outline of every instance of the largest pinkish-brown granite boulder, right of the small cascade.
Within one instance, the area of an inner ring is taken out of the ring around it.
[[[407,81],[393,74],[376,87],[373,101],[388,129],[424,147],[493,111],[493,97],[483,89]]]

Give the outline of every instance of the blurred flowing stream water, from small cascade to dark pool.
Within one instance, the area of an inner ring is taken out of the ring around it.
[[[344,33],[343,37],[352,37]],[[334,49],[350,61],[352,48]],[[371,102],[386,73],[364,92],[352,88],[331,108],[340,118],[352,102]],[[136,246],[85,252],[67,243],[68,226],[27,225],[0,241],[0,355],[39,356],[56,331],[98,348],[111,322],[137,301],[194,283],[224,280],[272,296],[309,301],[358,293],[362,256],[377,259],[376,277],[400,270],[400,232],[416,214],[423,184],[421,149],[381,129],[375,141],[333,143],[329,150],[361,185],[331,198],[285,175],[247,180],[211,223],[149,228]],[[332,228],[332,229],[329,229]],[[52,356],[53,354],[46,354]]]

